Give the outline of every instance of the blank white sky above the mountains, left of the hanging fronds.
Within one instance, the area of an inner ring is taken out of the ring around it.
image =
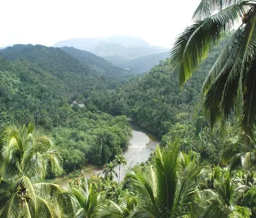
[[[116,34],[171,47],[200,1],[0,0],[0,47]]]

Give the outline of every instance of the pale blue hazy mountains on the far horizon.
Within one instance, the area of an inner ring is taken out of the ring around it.
[[[101,38],[73,38],[55,43],[54,47],[74,47],[94,53],[116,66],[143,73],[169,57],[169,49],[151,46],[140,37],[112,36]]]

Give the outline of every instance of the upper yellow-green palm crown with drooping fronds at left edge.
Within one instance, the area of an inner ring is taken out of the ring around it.
[[[26,127],[8,124],[2,128],[0,139],[3,177],[43,179],[51,170],[60,175],[62,158],[49,136],[35,129],[31,123]]]

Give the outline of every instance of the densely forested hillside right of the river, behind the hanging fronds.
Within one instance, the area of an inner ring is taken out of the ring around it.
[[[202,83],[221,48],[211,51],[182,90],[167,59],[142,77],[125,84],[116,95],[102,96],[98,100],[101,102],[99,106],[113,115],[130,116],[142,127],[164,135],[172,125],[193,118]]]

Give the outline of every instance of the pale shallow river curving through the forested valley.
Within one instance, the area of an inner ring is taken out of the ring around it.
[[[132,127],[132,137],[128,150],[123,154],[127,164],[120,168],[120,181],[123,180],[127,169],[134,167],[136,164],[145,162],[159,143],[159,138],[156,135],[139,127],[133,122],[130,122],[130,125]],[[100,173],[100,175],[103,176],[102,171],[103,170],[95,171],[95,173]],[[117,173],[119,172],[119,166],[115,167],[115,171]],[[118,178],[114,177],[114,180],[118,181]]]

